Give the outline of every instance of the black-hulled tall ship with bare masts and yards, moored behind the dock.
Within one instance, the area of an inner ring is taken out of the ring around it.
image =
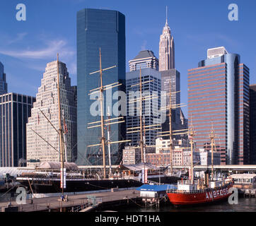
[[[57,55],[57,64],[59,64],[59,56]],[[103,85],[103,71],[112,69],[115,66],[110,66],[107,69],[102,69],[101,67],[101,53],[100,53],[100,69],[93,73],[100,73],[100,87],[90,90],[89,95],[92,93],[100,93],[100,121],[94,121],[88,124],[88,129],[94,127],[100,127],[101,137],[100,143],[88,145],[88,146],[99,146],[103,153],[103,172],[94,173],[94,174],[85,174],[82,170],[79,170],[77,165],[74,162],[67,162],[66,153],[65,153],[65,128],[62,126],[62,119],[64,121],[64,115],[61,114],[62,109],[60,106],[60,101],[58,105],[59,112],[59,128],[54,128],[59,134],[59,156],[60,162],[41,162],[38,167],[35,167],[34,172],[20,174],[16,178],[17,182],[20,182],[23,186],[27,187],[28,190],[33,194],[42,194],[42,193],[62,193],[64,192],[78,192],[78,191],[95,191],[95,190],[104,190],[112,188],[129,188],[141,186],[142,179],[139,177],[115,177],[112,172],[111,159],[110,159],[110,145],[112,143],[123,143],[128,141],[110,141],[110,124],[121,123],[119,119],[122,117],[117,117],[110,119],[108,115],[107,119],[103,117],[103,91],[111,88],[112,86],[122,85],[120,83],[113,83],[110,85]],[[141,85],[141,84],[140,84]],[[57,88],[58,88],[58,100],[60,100],[61,92],[59,91],[59,67],[57,67]],[[45,114],[43,114],[44,117]],[[50,122],[49,119],[47,121]],[[51,124],[51,123],[50,123]],[[51,124],[52,125],[52,124]],[[65,123],[63,123],[65,125]],[[105,128],[107,126],[107,139],[105,138]],[[34,131],[35,132],[35,131]],[[36,132],[35,132],[36,133]],[[141,124],[141,133],[142,133],[142,124]],[[40,136],[36,133],[37,136]],[[42,136],[40,136],[42,138]],[[45,138],[42,138],[45,141]],[[142,140],[142,135],[141,135]],[[47,141],[45,141],[47,142]],[[48,143],[48,142],[47,142]],[[51,145],[48,143],[48,145]],[[106,158],[105,158],[105,146],[108,149],[109,155],[109,170],[107,174],[106,167]],[[141,151],[144,150],[143,141],[141,141]],[[143,155],[141,155],[143,157]],[[141,162],[144,162],[142,160]],[[145,162],[144,162],[145,164]],[[115,169],[117,171],[118,169]],[[165,176],[161,174],[159,177],[156,175],[149,175],[149,180],[151,182],[159,183],[165,182],[177,182],[177,179],[173,181],[173,177]]]

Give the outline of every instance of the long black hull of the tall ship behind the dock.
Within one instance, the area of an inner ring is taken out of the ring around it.
[[[159,182],[158,177],[150,179],[153,182]],[[178,177],[161,177],[161,183],[165,184],[175,184],[177,183]],[[60,193],[62,189],[60,189],[59,181],[48,181],[45,184],[35,183],[30,180],[30,184],[28,180],[19,180],[19,182],[27,187],[30,190],[30,185],[33,189],[34,194],[47,194],[47,193]],[[84,179],[84,180],[74,180],[74,181],[66,181],[66,189],[64,192],[80,192],[80,191],[98,191],[112,188],[130,188],[130,187],[138,187],[141,186],[142,182],[138,182],[134,179]],[[31,192],[31,191],[30,191]]]

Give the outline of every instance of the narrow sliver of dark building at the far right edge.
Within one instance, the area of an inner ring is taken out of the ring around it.
[[[250,85],[250,164],[256,164],[256,84]]]

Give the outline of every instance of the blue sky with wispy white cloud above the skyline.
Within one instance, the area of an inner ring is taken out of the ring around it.
[[[27,20],[16,20],[16,5],[25,4]],[[238,4],[238,21],[228,20],[228,5]],[[181,73],[181,102],[187,102],[187,69],[206,59],[206,49],[224,46],[238,53],[256,83],[256,1],[237,0],[1,0],[0,61],[5,66],[8,92],[34,95],[47,62],[67,64],[76,85],[76,12],[82,8],[112,9],[126,17],[128,61],[141,49],[158,57],[158,43],[168,24],[175,40],[175,66]],[[184,109],[187,114],[187,109]]]

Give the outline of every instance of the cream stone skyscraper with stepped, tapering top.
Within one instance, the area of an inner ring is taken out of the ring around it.
[[[71,86],[66,64],[59,61],[60,107],[66,131],[65,158],[74,162],[76,156],[76,95]],[[59,128],[57,61],[47,64],[27,124],[27,160],[59,162]],[[45,117],[43,114],[45,114]],[[52,126],[48,119],[51,121]],[[55,128],[55,129],[54,129]],[[45,141],[40,138],[39,134]],[[48,143],[47,143],[47,142]],[[33,163],[28,163],[33,165]]]

